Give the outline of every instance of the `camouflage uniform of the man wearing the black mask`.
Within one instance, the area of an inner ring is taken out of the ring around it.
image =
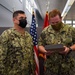
[[[0,75],[31,75],[33,43],[27,31],[24,35],[10,28],[0,36]]]

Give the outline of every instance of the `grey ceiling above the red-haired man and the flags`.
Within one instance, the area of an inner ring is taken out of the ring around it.
[[[58,9],[62,13],[67,0],[35,0],[35,2],[41,16],[44,18],[47,10],[48,12],[50,12],[53,9]],[[49,8],[47,9],[48,3]],[[75,20],[75,2],[73,3],[72,7],[70,8],[68,14],[64,19]]]

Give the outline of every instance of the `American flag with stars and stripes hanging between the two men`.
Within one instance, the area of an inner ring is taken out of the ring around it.
[[[32,14],[32,23],[31,23],[31,27],[30,27],[30,34],[32,36],[33,44],[34,44],[34,58],[35,58],[35,64],[36,64],[35,74],[39,75],[39,61],[38,61],[38,49],[37,49],[37,30],[36,30],[36,20],[35,20],[34,12]]]

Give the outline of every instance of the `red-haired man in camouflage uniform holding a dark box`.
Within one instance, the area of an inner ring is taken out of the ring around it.
[[[47,53],[44,46],[50,44],[63,44],[65,51],[52,52],[48,56],[45,61],[45,75],[75,75],[75,59],[71,54],[67,55],[70,50],[75,50],[75,46],[72,46],[75,43],[75,29],[62,23],[61,14],[56,9],[49,13],[49,20],[51,25],[40,34],[38,42],[40,52]]]

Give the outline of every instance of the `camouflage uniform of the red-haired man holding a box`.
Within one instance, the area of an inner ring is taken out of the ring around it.
[[[75,29],[70,25],[63,24],[59,32],[55,32],[51,26],[46,27],[40,35],[38,45],[63,44],[69,47],[74,43]],[[71,54],[67,57],[64,54],[53,53],[45,61],[45,75],[75,75],[73,72],[74,62]]]

